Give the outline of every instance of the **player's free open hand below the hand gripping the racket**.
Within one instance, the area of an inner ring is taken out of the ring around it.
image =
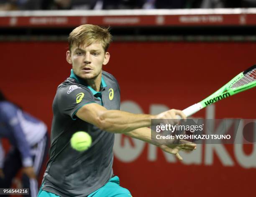
[[[197,144],[181,139],[179,140],[179,144],[162,144],[159,147],[164,152],[175,154],[179,160],[182,160],[179,151],[191,152],[192,150],[197,149]]]

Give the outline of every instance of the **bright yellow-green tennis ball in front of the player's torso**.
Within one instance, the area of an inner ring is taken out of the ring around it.
[[[73,149],[82,152],[91,146],[92,137],[84,131],[77,131],[72,135],[70,144]]]

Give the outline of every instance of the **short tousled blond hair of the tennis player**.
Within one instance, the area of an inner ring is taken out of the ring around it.
[[[69,34],[69,51],[74,43],[79,47],[81,44],[90,45],[95,42],[101,42],[105,52],[108,50],[108,47],[111,42],[112,35],[109,33],[109,28],[102,28],[98,25],[80,25],[75,28]]]

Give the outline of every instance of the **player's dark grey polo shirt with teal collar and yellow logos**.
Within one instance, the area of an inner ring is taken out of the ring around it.
[[[50,159],[43,179],[43,190],[61,197],[85,197],[106,184],[113,175],[114,134],[77,118],[84,105],[97,103],[106,109],[120,109],[120,88],[116,79],[102,71],[100,92],[76,76],[61,83],[53,102]],[[70,146],[76,131],[92,136],[92,145],[84,152]]]

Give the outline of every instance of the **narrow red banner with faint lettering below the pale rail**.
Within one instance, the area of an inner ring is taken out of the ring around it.
[[[13,14],[0,16],[0,27],[76,27],[81,24],[95,24],[104,26],[244,26],[256,25],[256,13],[236,12],[233,13],[211,13],[210,11],[198,14],[173,14],[168,13],[130,15],[85,15],[84,13],[58,15],[58,11],[52,15],[52,12],[44,14]]]

